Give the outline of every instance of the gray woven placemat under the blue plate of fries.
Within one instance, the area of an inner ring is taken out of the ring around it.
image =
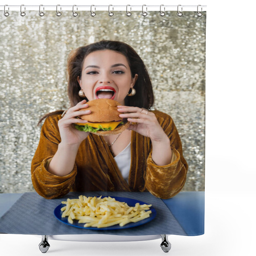
[[[92,230],[76,228],[60,222],[54,216],[54,209],[67,198],[78,196],[119,196],[137,199],[152,204],[156,218],[144,225],[117,230]],[[37,193],[24,193],[0,219],[0,232],[7,234],[70,235],[70,234],[110,234],[110,235],[186,235],[183,228],[160,198],[149,192],[70,192],[58,199],[45,199]]]

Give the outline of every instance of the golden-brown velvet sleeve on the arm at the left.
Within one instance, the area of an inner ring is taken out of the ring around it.
[[[66,195],[75,182],[76,165],[66,176],[57,176],[47,171],[51,158],[60,143],[59,116],[47,117],[41,129],[40,140],[31,163],[31,179],[36,192],[47,199]]]

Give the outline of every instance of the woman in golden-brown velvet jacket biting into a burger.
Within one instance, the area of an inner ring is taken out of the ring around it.
[[[69,191],[176,195],[188,170],[180,137],[170,116],[148,110],[154,102],[152,84],[132,47],[118,41],[79,47],[69,55],[68,75],[71,107],[44,116],[32,160],[37,193],[48,199]],[[120,117],[128,118],[130,127],[110,136],[76,130],[76,117],[90,113],[86,102],[98,98],[119,101]]]

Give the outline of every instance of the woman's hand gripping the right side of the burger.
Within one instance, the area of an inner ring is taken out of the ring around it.
[[[117,106],[117,110],[121,113],[125,113],[120,114],[120,117],[127,118],[128,122],[135,123],[129,126],[129,130],[133,130],[143,136],[149,137],[151,141],[161,142],[168,139],[164,130],[158,123],[155,114],[149,112],[147,109]]]

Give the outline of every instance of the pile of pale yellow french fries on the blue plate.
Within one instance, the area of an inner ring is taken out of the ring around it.
[[[151,204],[139,204],[131,207],[115,198],[97,196],[79,196],[78,199],[67,199],[61,202],[66,206],[61,208],[61,217],[68,217],[68,222],[73,220],[85,223],[84,227],[106,228],[116,224],[121,227],[130,222],[137,222],[149,217]],[[148,211],[149,210],[149,211]]]

